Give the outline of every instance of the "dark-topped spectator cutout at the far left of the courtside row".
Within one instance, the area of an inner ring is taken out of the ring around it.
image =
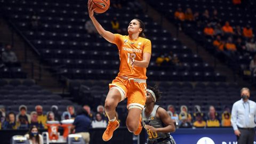
[[[6,121],[3,124],[3,130],[17,130],[19,123],[16,121],[15,114],[11,111],[6,117]]]

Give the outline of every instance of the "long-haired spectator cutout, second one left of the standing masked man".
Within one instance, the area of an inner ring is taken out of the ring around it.
[[[208,118],[206,121],[207,127],[219,127],[220,122],[218,120],[218,113],[213,106],[209,107]]]

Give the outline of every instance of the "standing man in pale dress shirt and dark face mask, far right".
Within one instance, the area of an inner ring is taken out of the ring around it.
[[[247,87],[241,89],[241,98],[232,107],[231,123],[237,137],[237,144],[253,144],[256,103],[249,100],[250,90]]]

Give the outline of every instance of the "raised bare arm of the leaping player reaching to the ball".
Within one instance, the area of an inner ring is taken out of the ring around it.
[[[92,1],[88,1],[89,16],[93,22],[93,25],[95,26],[98,33],[102,37],[104,37],[108,42],[113,43],[114,39],[115,39],[115,35],[113,33],[111,33],[110,31],[103,29],[103,27],[100,25],[100,23],[95,19],[95,17],[93,16],[93,13],[94,13],[94,9],[92,9],[93,5],[94,4]]]

